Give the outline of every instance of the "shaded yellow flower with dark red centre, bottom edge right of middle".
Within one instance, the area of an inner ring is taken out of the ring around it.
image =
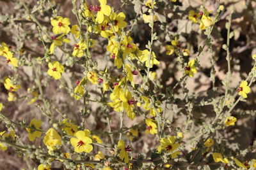
[[[168,138],[162,138],[161,139],[161,145],[157,148],[158,152],[160,153],[161,150],[166,150],[167,152],[173,152],[176,150],[180,144],[175,143],[176,136],[169,136]],[[172,159],[175,159],[177,155],[179,155],[179,151],[173,152],[171,154]]]

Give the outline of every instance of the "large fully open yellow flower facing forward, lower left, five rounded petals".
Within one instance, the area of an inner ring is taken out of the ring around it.
[[[77,131],[76,138],[71,138],[70,143],[74,147],[74,151],[77,153],[86,152],[90,153],[93,150],[92,139],[90,138],[91,132],[86,129],[85,131]]]

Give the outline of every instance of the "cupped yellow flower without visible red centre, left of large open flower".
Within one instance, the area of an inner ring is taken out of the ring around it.
[[[54,128],[50,128],[44,137],[44,144],[48,150],[55,150],[56,146],[61,146],[61,136]]]

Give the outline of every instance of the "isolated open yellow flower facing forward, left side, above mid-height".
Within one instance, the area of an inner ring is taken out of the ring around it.
[[[48,63],[48,71],[47,73],[49,76],[52,76],[55,80],[58,80],[61,78],[61,73],[64,72],[64,67],[60,64],[58,61],[49,62]]]

